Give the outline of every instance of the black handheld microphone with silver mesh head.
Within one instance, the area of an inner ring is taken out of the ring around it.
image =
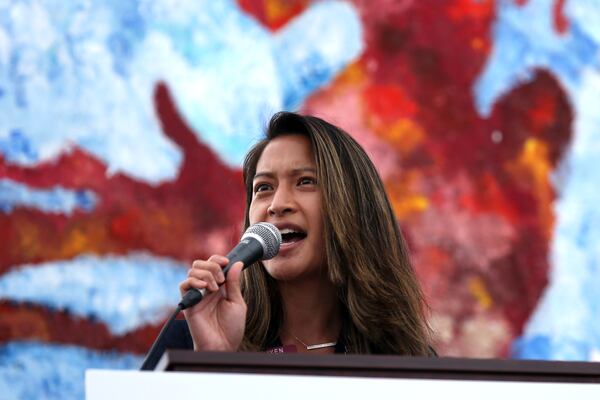
[[[240,242],[227,254],[229,263],[223,268],[223,275],[227,277],[227,272],[238,261],[242,261],[243,269],[246,269],[258,260],[275,257],[279,252],[279,246],[281,246],[281,233],[275,225],[268,222],[251,225],[242,235]],[[206,288],[188,290],[179,302],[179,308],[185,310],[192,307],[205,295]]]

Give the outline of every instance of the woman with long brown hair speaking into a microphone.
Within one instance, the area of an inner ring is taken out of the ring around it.
[[[211,293],[184,311],[194,348],[429,355],[423,294],[383,184],[341,129],[282,112],[244,162],[245,226],[279,254],[241,272],[213,255],[181,283]],[[219,285],[221,285],[219,289]]]

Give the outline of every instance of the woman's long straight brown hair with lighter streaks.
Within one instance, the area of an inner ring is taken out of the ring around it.
[[[362,147],[340,128],[316,117],[281,112],[266,138],[244,161],[245,228],[252,180],[271,140],[308,137],[317,166],[324,218],[325,262],[342,305],[341,337],[350,353],[430,354],[425,301],[379,174]],[[265,350],[283,320],[277,282],[260,266],[242,274],[248,305],[242,349]]]

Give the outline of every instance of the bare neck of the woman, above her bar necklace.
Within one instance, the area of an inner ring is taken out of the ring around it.
[[[279,291],[284,344],[296,344],[302,351],[302,342],[312,345],[337,340],[341,329],[340,303],[335,286],[328,279],[280,282]]]

